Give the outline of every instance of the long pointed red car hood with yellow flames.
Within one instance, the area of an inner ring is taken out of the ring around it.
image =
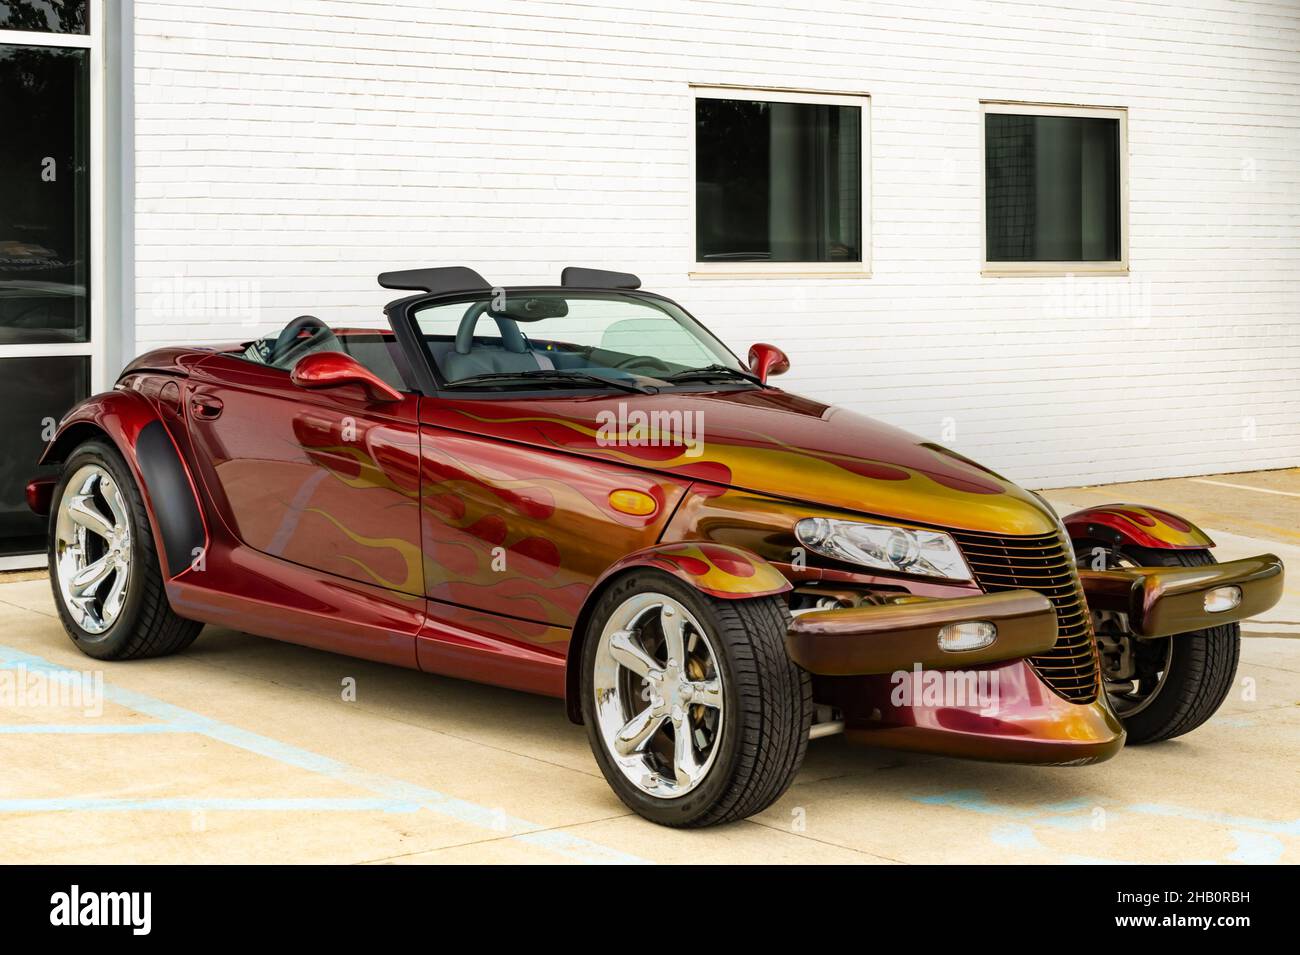
[[[776,390],[442,400],[425,421],[692,481],[1000,534],[1048,534],[1032,494],[939,444]]]

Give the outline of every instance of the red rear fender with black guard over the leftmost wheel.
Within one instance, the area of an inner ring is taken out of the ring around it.
[[[58,424],[39,464],[61,464],[78,444],[96,437],[107,437],[131,469],[164,574],[183,573],[207,547],[208,530],[194,477],[157,408],[135,391],[94,395]]]

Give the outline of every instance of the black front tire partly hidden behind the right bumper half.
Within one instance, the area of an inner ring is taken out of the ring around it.
[[[1205,567],[1218,563],[1206,550],[1165,551],[1126,546],[1115,556],[1121,567]],[[1117,639],[1098,633],[1098,641],[1102,683],[1115,715],[1128,732],[1128,742],[1157,743],[1192,732],[1222,706],[1236,678],[1242,628],[1225,624],[1143,641],[1132,637]],[[1123,672],[1117,674],[1121,663]]]

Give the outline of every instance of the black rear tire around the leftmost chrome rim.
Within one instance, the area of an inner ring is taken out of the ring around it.
[[[56,567],[55,526],[58,508],[69,478],[84,464],[98,464],[112,476],[122,492],[130,522],[131,573],[126,585],[126,595],[121,613],[103,633],[90,633],[82,629],[69,615],[58,586]],[[138,660],[150,656],[166,656],[194,643],[203,624],[185,620],[168,603],[150,516],[140,491],[135,486],[135,478],[116,447],[107,440],[98,439],[78,446],[64,463],[62,474],[51,502],[49,586],[55,594],[58,618],[78,650],[96,660]]]

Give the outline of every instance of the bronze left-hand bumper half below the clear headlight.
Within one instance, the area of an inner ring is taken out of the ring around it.
[[[950,624],[987,621],[993,642],[979,650],[949,651],[939,631]],[[965,669],[1050,650],[1057,639],[1052,602],[1032,590],[806,611],[785,634],[790,659],[822,676],[867,676],[923,669]]]

